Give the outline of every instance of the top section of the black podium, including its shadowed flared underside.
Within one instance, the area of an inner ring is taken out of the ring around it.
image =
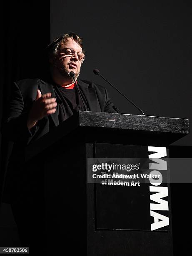
[[[189,133],[189,120],[79,111],[25,150],[30,159],[55,143],[117,143],[165,146]]]

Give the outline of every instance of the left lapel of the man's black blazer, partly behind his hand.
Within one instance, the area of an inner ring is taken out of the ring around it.
[[[45,94],[45,93],[51,92],[51,97],[55,98],[55,92],[54,92],[52,84],[48,84],[48,83],[46,83],[42,80],[40,80],[39,82],[40,82],[39,83],[39,87],[40,87],[39,89],[40,89],[42,95]],[[59,117],[58,117],[57,108],[56,108],[55,113],[50,114],[50,116],[51,116],[53,122],[55,123],[55,126],[59,125]]]

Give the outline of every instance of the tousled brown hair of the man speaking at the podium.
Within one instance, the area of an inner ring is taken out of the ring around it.
[[[60,44],[65,43],[67,38],[72,38],[77,44],[79,44],[82,48],[82,52],[85,54],[82,39],[79,36],[77,36],[76,33],[68,32],[62,36],[59,36],[58,38],[55,38],[49,45],[47,45],[46,50],[48,58],[56,56],[58,47],[60,46]]]

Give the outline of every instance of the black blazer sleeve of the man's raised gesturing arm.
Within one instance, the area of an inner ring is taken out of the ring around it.
[[[37,125],[31,130],[27,128],[29,109],[25,109],[22,93],[17,83],[13,84],[7,117],[2,122],[2,134],[8,141],[28,143],[36,133]]]

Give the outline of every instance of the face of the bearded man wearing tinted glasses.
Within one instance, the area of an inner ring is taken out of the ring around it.
[[[77,53],[75,53],[73,56],[68,56],[66,51],[62,49],[73,49],[79,53],[82,52],[82,48],[72,38],[67,38],[65,43],[62,43],[58,47],[56,58],[53,61],[54,67],[63,77],[69,78],[70,72],[73,71],[75,73],[75,79],[77,79],[80,74],[82,61],[78,59]]]

